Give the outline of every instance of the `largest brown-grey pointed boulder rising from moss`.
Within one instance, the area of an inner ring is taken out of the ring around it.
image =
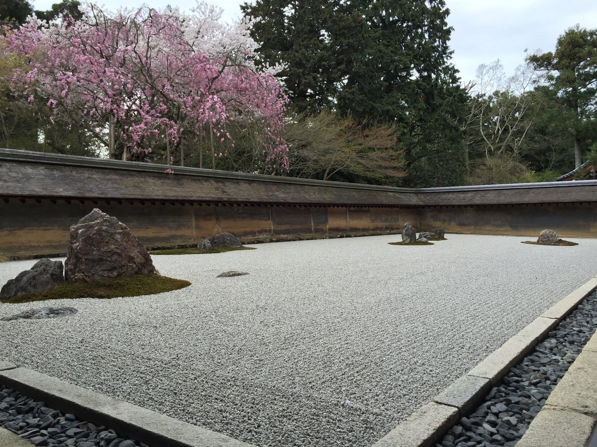
[[[157,274],[146,248],[128,226],[95,208],[70,227],[66,281]]]

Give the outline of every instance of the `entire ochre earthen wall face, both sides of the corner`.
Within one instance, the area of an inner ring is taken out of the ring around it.
[[[241,238],[337,237],[418,231],[535,236],[553,228],[562,237],[597,237],[597,203],[420,208],[239,206],[133,201],[0,201],[0,257],[66,253],[70,225],[94,207],[124,222],[148,247],[183,246],[229,231]]]

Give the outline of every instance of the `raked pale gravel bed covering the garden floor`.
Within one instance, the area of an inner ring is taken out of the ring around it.
[[[190,287],[0,322],[17,365],[260,446],[370,446],[597,274],[597,240],[400,235],[153,256]],[[0,284],[35,261],[0,263]],[[216,278],[221,272],[250,273]],[[40,303],[0,304],[0,317]]]

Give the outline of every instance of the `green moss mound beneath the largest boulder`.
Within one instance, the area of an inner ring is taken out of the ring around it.
[[[125,296],[153,295],[188,287],[189,281],[175,280],[160,275],[136,275],[112,280],[96,280],[89,283],[62,283],[50,290],[12,296],[0,300],[2,303],[29,303],[32,301],[75,299],[75,298],[117,298]]]

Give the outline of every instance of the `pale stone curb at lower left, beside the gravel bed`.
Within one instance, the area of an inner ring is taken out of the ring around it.
[[[255,447],[137,405],[0,361],[0,383],[52,408],[116,430],[154,447]]]

